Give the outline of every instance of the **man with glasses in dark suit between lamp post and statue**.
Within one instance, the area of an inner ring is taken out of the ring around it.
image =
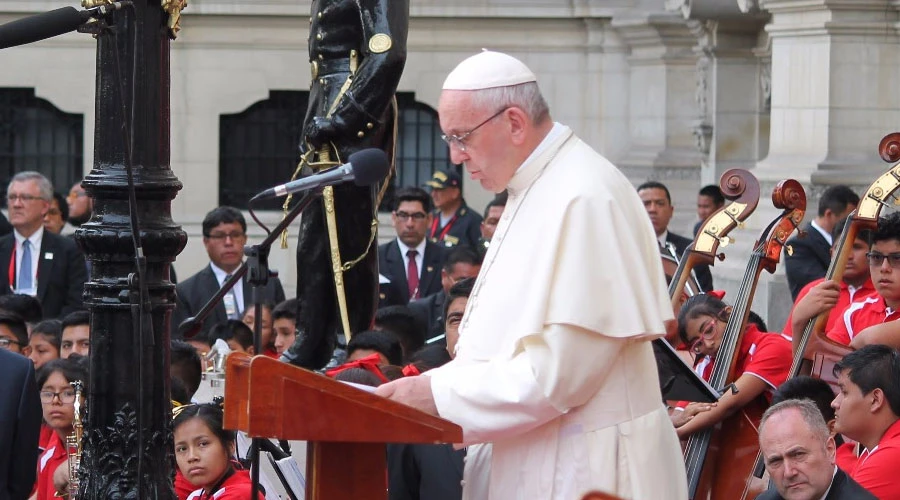
[[[212,298],[225,280],[243,265],[244,245],[247,243],[247,222],[240,210],[234,207],[219,207],[203,219],[203,245],[209,255],[209,265],[200,272],[182,281],[175,287],[177,294],[175,312],[172,314],[172,336],[180,338],[178,325],[187,318],[195,316]],[[214,325],[229,319],[241,319],[251,303],[250,284],[247,275],[238,281],[234,288],[225,294],[222,301],[203,323],[202,332]],[[278,304],[284,301],[284,288],[278,278],[270,278],[263,290],[263,303]],[[263,350],[274,339],[263,338]]]

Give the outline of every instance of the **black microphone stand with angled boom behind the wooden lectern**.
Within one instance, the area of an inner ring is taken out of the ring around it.
[[[252,298],[255,313],[253,321],[253,347],[256,351],[256,355],[262,353],[261,291],[269,282],[269,278],[277,275],[269,270],[269,251],[272,249],[272,244],[275,240],[281,237],[281,232],[284,231],[298,215],[300,215],[300,212],[305,210],[306,207],[322,195],[322,189],[324,188],[320,187],[305,193],[294,208],[291,209],[281,222],[266,235],[261,243],[244,247],[244,255],[247,256],[247,261],[244,265],[235,271],[230,279],[222,284],[219,291],[204,304],[203,308],[197,312],[196,316],[192,316],[178,325],[178,331],[182,333],[185,338],[193,337],[203,328],[203,321],[206,317],[209,316],[212,310],[222,301],[225,294],[231,291],[235,283],[246,274],[247,282],[250,284],[250,296]],[[262,438],[252,437],[250,444],[250,476],[252,482],[250,498],[253,500],[256,500],[257,494],[259,493],[259,450],[261,440]]]

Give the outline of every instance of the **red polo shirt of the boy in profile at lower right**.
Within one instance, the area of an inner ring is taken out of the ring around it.
[[[876,497],[900,498],[897,464],[900,464],[900,420],[888,427],[875,448],[863,450],[856,468],[848,472],[854,481]]]

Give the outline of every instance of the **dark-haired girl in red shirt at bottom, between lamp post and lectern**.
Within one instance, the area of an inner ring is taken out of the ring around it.
[[[172,421],[178,470],[197,488],[188,500],[246,500],[250,498],[250,474],[236,470],[231,460],[234,431],[222,428],[222,410],[215,404],[176,408]],[[257,493],[259,500],[265,495]]]

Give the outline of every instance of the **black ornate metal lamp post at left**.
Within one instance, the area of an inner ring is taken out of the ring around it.
[[[187,236],[170,211],[181,183],[169,168],[169,41],[175,29],[164,9],[177,20],[181,4],[134,0],[97,37],[94,165],[83,182],[94,212],[76,233],[92,265],[84,291],[91,376],[79,498],[176,498],[168,355],[175,287],[169,267]],[[141,252],[131,229],[129,164]]]

